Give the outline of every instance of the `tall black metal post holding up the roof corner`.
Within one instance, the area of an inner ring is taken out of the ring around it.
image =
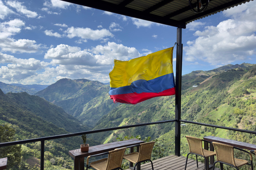
[[[182,76],[182,28],[177,28],[176,81],[175,81],[175,155],[180,156],[181,120],[181,76]]]

